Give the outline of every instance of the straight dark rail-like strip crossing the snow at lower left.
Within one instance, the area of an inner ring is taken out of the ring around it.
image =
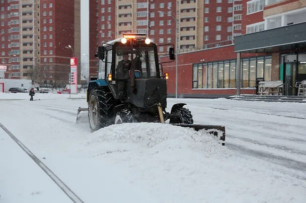
[[[55,182],[55,184],[75,203],[84,201],[75,194],[54,172],[52,172],[35,154],[31,152],[13,133],[11,133],[2,123],[0,127],[33,159],[33,161]]]

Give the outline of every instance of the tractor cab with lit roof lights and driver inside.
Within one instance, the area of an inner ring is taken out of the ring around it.
[[[145,34],[123,34],[103,43],[98,50],[98,79],[106,80],[115,99],[141,108],[161,101],[166,106],[167,84],[157,47]],[[173,46],[169,50],[173,61]]]

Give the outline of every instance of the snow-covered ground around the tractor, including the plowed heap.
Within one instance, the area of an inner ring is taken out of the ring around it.
[[[13,99],[13,100],[12,100]],[[227,99],[187,103],[204,132],[160,123],[75,124],[85,95],[0,93],[0,125],[84,202],[305,202],[306,104]],[[72,202],[0,128],[0,202]]]

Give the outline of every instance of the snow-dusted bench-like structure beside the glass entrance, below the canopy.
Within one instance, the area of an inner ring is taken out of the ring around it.
[[[283,93],[283,81],[281,80],[260,81],[258,87],[259,95],[282,95]]]

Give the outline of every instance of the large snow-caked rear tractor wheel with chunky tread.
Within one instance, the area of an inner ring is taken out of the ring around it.
[[[110,91],[97,88],[91,91],[88,104],[89,124],[92,132],[113,124],[113,96]]]

